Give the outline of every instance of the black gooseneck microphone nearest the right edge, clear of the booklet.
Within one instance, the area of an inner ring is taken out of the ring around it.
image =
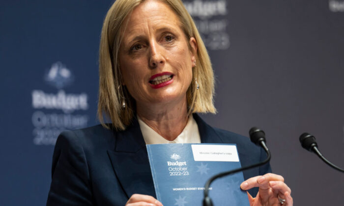
[[[318,155],[320,157],[320,159],[322,159],[322,161],[324,161],[326,164],[330,165],[330,167],[338,170],[338,171],[341,171],[341,172],[344,172],[344,170],[340,167],[337,167],[336,165],[332,164],[330,161],[328,161],[319,151],[318,149],[318,145],[316,144],[316,141],[315,141],[315,137],[310,134],[310,133],[303,133],[301,134],[300,136],[300,143],[301,143],[301,146],[303,148],[305,148],[306,150],[310,151],[310,152],[314,152],[316,155]]]

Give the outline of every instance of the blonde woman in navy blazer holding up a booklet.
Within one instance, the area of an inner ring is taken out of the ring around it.
[[[216,112],[213,71],[180,0],[117,0],[104,20],[99,63],[102,126],[60,134],[48,206],[161,206],[145,144],[235,143],[243,165],[264,158],[248,138],[195,114]],[[244,172],[250,205],[292,206],[283,177],[269,171]]]

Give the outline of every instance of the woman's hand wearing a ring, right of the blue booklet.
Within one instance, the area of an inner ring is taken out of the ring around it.
[[[241,189],[248,190],[259,187],[257,197],[253,198],[249,193],[250,206],[292,206],[293,200],[290,196],[291,190],[284,182],[284,178],[276,174],[265,174],[245,180],[240,185]],[[286,200],[284,204],[280,199]]]

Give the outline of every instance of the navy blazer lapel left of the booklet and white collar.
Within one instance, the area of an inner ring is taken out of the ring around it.
[[[148,154],[136,118],[126,130],[116,133],[115,150],[108,150],[115,174],[126,195],[156,197]]]

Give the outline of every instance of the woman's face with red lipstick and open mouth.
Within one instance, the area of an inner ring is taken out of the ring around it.
[[[195,38],[187,40],[178,17],[156,0],[143,2],[127,19],[119,65],[122,84],[137,105],[186,101],[192,67],[196,66]]]

